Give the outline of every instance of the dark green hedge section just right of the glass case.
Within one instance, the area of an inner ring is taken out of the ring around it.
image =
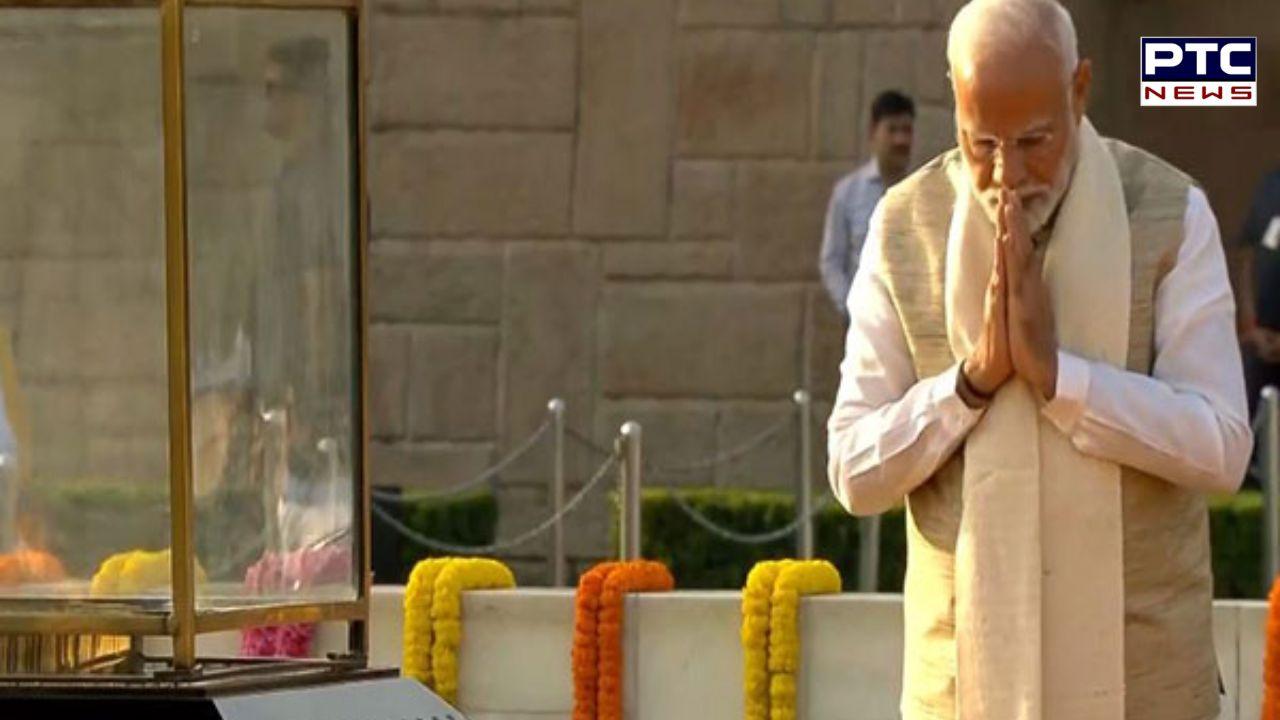
[[[410,503],[384,502],[381,507],[419,534],[453,544],[489,544],[498,528],[498,498],[492,492]],[[419,560],[448,555],[402,538],[376,516],[372,523],[374,580],[378,583],[404,583]]]

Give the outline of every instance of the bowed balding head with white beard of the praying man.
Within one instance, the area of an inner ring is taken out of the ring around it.
[[[973,0],[947,38],[956,141],[988,217],[1000,192],[1044,224],[1070,184],[1092,81],[1071,15],[1053,0]]]

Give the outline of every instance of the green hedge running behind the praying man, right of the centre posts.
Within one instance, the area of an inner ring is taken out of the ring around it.
[[[689,505],[719,525],[741,533],[780,528],[795,516],[790,493],[735,489],[678,491]],[[643,497],[644,555],[666,562],[681,588],[740,588],[760,560],[794,557],[792,537],[768,544],[739,544],[694,524],[666,489]],[[906,571],[906,532],[901,509],[881,524],[879,589],[901,592]],[[1262,501],[1258,493],[1213,498],[1210,527],[1215,591],[1219,597],[1265,597],[1262,583]],[[617,529],[614,529],[617,533]],[[832,561],[852,589],[858,579],[858,519],[829,505],[814,524],[815,555]]]

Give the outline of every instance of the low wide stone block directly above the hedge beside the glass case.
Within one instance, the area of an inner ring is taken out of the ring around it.
[[[369,479],[375,486],[447,489],[479,477],[493,462],[490,443],[390,443],[369,446]]]

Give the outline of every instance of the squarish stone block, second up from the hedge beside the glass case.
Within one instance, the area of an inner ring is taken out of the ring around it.
[[[410,356],[408,419],[413,438],[477,441],[495,433],[498,333],[421,328]]]

